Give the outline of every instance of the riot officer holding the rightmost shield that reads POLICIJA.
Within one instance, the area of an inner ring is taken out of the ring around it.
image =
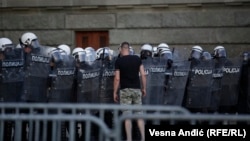
[[[235,113],[239,96],[239,79],[242,59],[228,58],[226,49],[223,46],[216,46],[214,48],[214,59],[217,65],[223,69],[221,90],[219,91],[220,104],[218,111],[220,113]]]

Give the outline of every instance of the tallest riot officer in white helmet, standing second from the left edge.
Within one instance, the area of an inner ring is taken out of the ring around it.
[[[26,32],[22,34],[20,38],[20,45],[24,50],[24,84],[21,92],[21,102],[27,103],[46,103],[47,102],[47,88],[48,88],[48,76],[50,70],[50,58],[48,55],[49,47],[45,47],[39,44],[37,36],[32,32]],[[29,112],[29,111],[22,111]],[[42,109],[34,111],[34,113],[40,113]],[[26,122],[22,126],[22,138],[26,140]],[[35,125],[33,129],[29,130],[29,138],[41,138],[42,137],[42,122],[38,124],[40,128],[39,135],[35,135]],[[29,127],[32,127],[29,125]]]

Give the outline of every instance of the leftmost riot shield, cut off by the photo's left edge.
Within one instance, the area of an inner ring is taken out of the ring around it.
[[[1,61],[0,102],[17,102],[24,80],[24,60],[22,49],[12,49],[5,53]]]

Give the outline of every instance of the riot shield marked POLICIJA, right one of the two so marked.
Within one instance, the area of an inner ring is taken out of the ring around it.
[[[238,102],[242,60],[228,58],[223,68],[220,106],[235,106]]]

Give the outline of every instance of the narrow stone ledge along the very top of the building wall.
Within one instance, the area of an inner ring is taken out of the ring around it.
[[[225,3],[238,5],[249,0],[1,0],[1,7],[54,7],[54,6],[127,6],[127,5],[201,5]]]

